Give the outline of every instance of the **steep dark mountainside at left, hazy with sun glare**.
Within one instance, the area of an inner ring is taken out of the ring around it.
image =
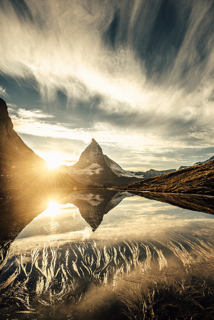
[[[0,188],[70,188],[80,184],[59,170],[47,170],[13,130],[6,102],[0,98]]]

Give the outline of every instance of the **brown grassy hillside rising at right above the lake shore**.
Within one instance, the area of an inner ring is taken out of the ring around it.
[[[214,161],[135,182],[123,189],[214,195]]]

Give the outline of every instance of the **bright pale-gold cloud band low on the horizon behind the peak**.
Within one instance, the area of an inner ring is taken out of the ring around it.
[[[96,123],[96,126],[88,129],[70,129],[69,124],[54,122],[56,119],[53,119],[53,115],[41,110],[16,109],[14,105],[10,105],[9,115],[14,129],[18,134],[21,133],[21,137],[24,134],[24,141],[26,135],[30,135],[30,141],[35,141],[34,145],[36,144],[37,147],[33,149],[39,156],[45,160],[54,156],[59,160],[59,164],[72,165],[77,162],[91,138],[95,138],[102,146],[103,152],[127,170],[145,171],[151,167],[159,170],[174,169],[183,162],[179,153],[185,149],[187,154],[190,154],[193,149],[193,144],[175,141],[174,137],[163,139],[154,133],[141,133],[134,129],[118,131],[116,126],[104,123]],[[42,138],[42,143],[39,143],[38,137]],[[49,139],[49,143],[52,139],[51,145],[48,145],[48,142],[44,144],[45,139]],[[58,143],[57,140],[61,139],[63,142]],[[78,148],[78,152],[75,140],[78,144],[84,141],[84,144]],[[212,140],[203,139],[203,148],[210,147],[213,147]],[[51,151],[50,148],[53,150]],[[194,148],[201,148],[200,139],[195,141]],[[188,158],[192,164],[191,156],[189,155]]]

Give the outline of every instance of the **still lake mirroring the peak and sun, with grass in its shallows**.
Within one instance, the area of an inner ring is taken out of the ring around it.
[[[1,192],[2,318],[213,319],[213,198],[145,196]]]

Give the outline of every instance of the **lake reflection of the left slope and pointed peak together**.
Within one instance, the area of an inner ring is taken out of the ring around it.
[[[116,207],[125,197],[126,191],[107,189],[58,189],[58,190],[10,190],[1,191],[0,240],[13,241],[16,236],[41,212],[55,211],[57,204],[73,204],[94,232],[103,216]],[[52,203],[50,207],[50,203]],[[48,207],[49,206],[49,207]]]

